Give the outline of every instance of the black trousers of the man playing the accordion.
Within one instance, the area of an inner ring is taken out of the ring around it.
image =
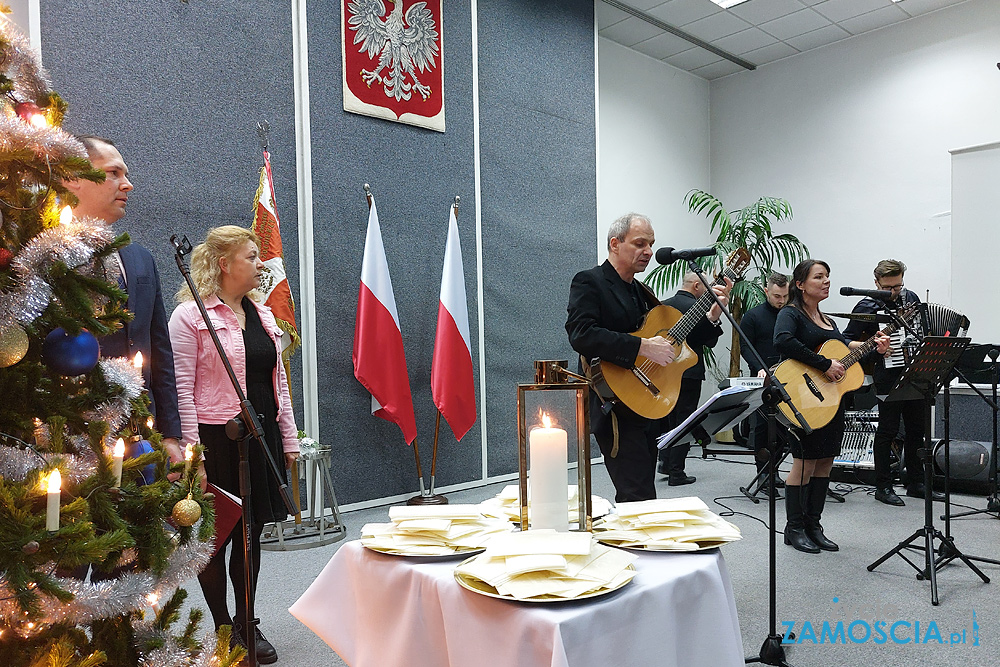
[[[899,434],[903,421],[906,433],[903,438],[903,464],[906,466],[906,484],[919,484],[924,479],[924,465],[917,450],[924,446],[924,420],[927,405],[923,400],[879,401],[878,428],[875,429],[875,486],[884,489],[892,485],[892,441]]]

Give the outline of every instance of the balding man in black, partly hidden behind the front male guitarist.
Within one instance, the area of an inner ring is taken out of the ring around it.
[[[686,313],[704,293],[705,284],[701,282],[701,278],[693,271],[689,271],[684,274],[684,283],[677,290],[677,294],[664,301],[663,305]],[[728,295],[728,291],[726,294]],[[701,383],[705,379],[704,348],[715,347],[715,344],[719,342],[719,337],[722,335],[722,327],[719,325],[721,317],[722,312],[713,305],[705,317],[701,318],[701,321],[688,334],[686,342],[697,353],[698,363],[684,371],[684,375],[681,376],[677,404],[670,414],[661,420],[663,432],[680,426],[681,422],[698,409],[698,401],[701,398]],[[670,486],[692,484],[695,481],[694,475],[688,475],[684,472],[684,460],[687,458],[689,449],[691,449],[690,444],[683,444],[660,450],[660,463],[657,466],[657,472],[667,475],[667,483]]]

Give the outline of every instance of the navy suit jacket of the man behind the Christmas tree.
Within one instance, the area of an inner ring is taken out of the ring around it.
[[[125,267],[127,308],[131,322],[101,339],[101,356],[128,357],[142,352],[142,375],[149,389],[149,411],[156,417],[156,429],[166,438],[181,437],[174,381],[174,353],[167,330],[167,313],[160,293],[160,274],[153,255],[132,243],[118,251]]]

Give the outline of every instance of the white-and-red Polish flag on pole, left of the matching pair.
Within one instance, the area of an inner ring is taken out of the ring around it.
[[[417,437],[417,422],[413,416],[403,335],[399,330],[396,299],[392,295],[374,199],[368,211],[368,236],[361,263],[353,356],[354,377],[372,395],[372,414],[395,422],[403,432],[403,440],[411,444]]]

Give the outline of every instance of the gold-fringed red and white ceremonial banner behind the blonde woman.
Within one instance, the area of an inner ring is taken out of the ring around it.
[[[295,327],[295,302],[285,274],[281,226],[274,205],[274,182],[271,180],[271,154],[267,151],[264,151],[264,166],[260,168],[260,183],[254,196],[254,217],[250,229],[260,238],[260,259],[265,268],[260,291],[264,295],[264,305],[271,309],[275,321],[284,332],[281,336],[281,358],[287,372],[288,360],[302,341]]]

